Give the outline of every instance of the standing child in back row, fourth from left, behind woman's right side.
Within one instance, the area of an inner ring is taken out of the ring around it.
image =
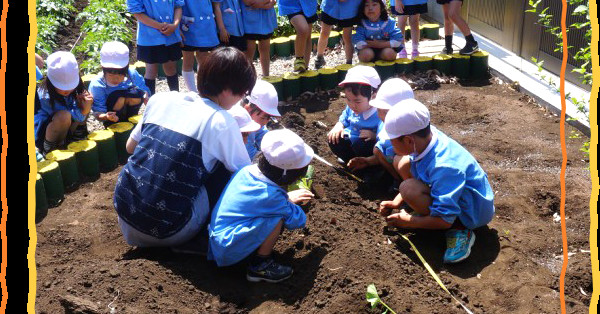
[[[271,37],[277,28],[275,0],[243,0],[242,17],[246,37],[246,56],[254,59],[256,41],[263,76],[269,76]]]

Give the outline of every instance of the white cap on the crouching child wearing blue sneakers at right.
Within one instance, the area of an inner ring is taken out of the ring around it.
[[[385,116],[385,131],[390,139],[413,134],[429,125],[429,110],[416,99],[406,99]]]

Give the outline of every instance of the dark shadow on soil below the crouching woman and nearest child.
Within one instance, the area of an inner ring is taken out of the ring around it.
[[[229,267],[217,267],[214,262],[207,261],[204,257],[174,254],[165,248],[134,248],[126,252],[123,259],[156,261],[175,275],[187,279],[198,290],[218,295],[221,302],[251,310],[269,300],[281,300],[292,305],[308,295],[315,284],[319,265],[327,250],[316,247],[300,258],[294,258],[294,253],[293,248],[279,254],[274,252],[277,261],[291,265],[296,271],[291,279],[276,285],[248,282],[245,261]]]

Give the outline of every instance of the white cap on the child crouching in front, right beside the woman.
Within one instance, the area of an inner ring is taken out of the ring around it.
[[[267,132],[260,150],[269,164],[284,171],[306,167],[315,153],[300,136],[287,129]]]

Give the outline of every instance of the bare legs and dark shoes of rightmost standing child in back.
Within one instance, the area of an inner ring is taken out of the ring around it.
[[[454,24],[458,26],[461,33],[465,36],[467,43],[459,51],[461,55],[471,55],[479,50],[479,45],[475,41],[475,37],[471,34],[469,24],[460,15],[460,8],[462,7],[463,0],[437,0],[438,4],[442,5],[444,10],[444,39],[446,40],[446,47],[442,50],[442,53],[452,54],[454,49],[452,48],[452,34],[454,34]],[[412,26],[411,26],[412,27]]]

